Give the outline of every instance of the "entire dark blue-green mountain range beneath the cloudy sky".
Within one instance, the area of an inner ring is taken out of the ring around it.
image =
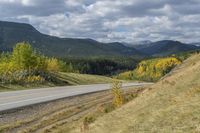
[[[29,42],[37,51],[54,57],[168,56],[199,49],[199,46],[173,40],[103,43],[90,38],[60,38],[39,32],[26,23],[0,21],[0,52],[12,51],[18,42]],[[139,43],[139,42],[138,42]]]

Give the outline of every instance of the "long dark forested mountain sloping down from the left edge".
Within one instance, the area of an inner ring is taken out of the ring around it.
[[[59,38],[45,35],[24,23],[0,21],[0,51],[11,51],[17,42],[26,41],[48,56],[140,56],[121,43],[101,43],[92,39]]]

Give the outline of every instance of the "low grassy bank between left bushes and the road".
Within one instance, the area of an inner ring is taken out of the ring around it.
[[[13,90],[24,90],[32,88],[45,88],[63,85],[86,85],[86,84],[99,84],[99,83],[111,83],[112,78],[98,75],[89,74],[78,74],[78,73],[64,73],[59,72],[51,75],[53,81],[46,81],[43,84],[0,84],[1,91],[13,91]]]

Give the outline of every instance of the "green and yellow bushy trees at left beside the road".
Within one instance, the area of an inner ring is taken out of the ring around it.
[[[63,63],[56,58],[38,54],[30,44],[18,43],[12,53],[0,55],[2,84],[28,84],[50,81],[51,73],[61,70]]]

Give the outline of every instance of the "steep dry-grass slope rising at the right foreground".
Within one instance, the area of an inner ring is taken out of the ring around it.
[[[200,132],[199,68],[196,54],[130,103],[96,120],[88,132]]]

